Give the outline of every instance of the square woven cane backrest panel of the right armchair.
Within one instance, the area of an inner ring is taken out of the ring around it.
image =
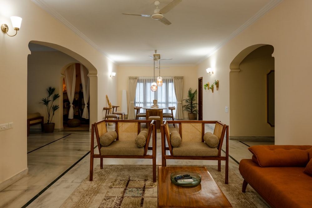
[[[202,123],[181,123],[182,142],[202,142]]]

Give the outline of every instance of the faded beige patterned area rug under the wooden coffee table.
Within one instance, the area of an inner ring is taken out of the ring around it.
[[[231,170],[229,184],[224,184],[224,169],[206,166],[233,207],[269,207],[260,196],[247,186],[241,192],[242,179]],[[153,183],[151,165],[109,165],[94,168],[93,181],[89,177],[71,194],[61,207],[157,207],[157,182]]]

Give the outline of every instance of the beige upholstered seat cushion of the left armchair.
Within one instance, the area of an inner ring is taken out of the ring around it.
[[[144,155],[144,152],[144,147],[137,147],[134,140],[117,140],[113,141],[107,147],[101,147],[101,155]]]

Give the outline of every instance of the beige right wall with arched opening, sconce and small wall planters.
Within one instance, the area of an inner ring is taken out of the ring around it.
[[[245,48],[269,44],[274,47],[275,58],[275,144],[312,144],[310,8],[312,1],[284,0],[198,65],[198,77],[203,76],[204,83],[220,81],[220,92],[203,94],[204,103],[212,107],[204,111],[204,119],[219,118],[231,129],[231,106],[228,114],[224,112],[230,97],[229,65]],[[216,67],[216,72],[208,77],[204,70],[211,66]]]

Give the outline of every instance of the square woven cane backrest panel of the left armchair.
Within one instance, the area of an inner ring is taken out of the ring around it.
[[[135,140],[138,136],[138,122],[118,122],[118,140]]]

